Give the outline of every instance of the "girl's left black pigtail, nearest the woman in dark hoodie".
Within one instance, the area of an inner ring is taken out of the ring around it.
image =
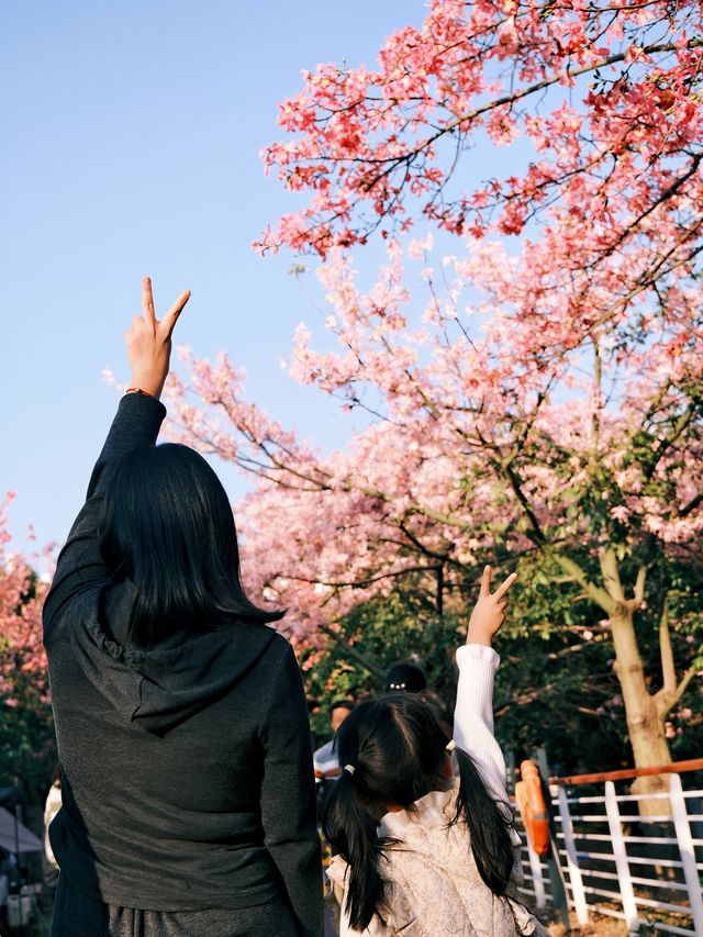
[[[378,835],[378,821],[361,806],[352,774],[343,771],[326,797],[322,830],[334,854],[349,866],[345,912],[355,930],[364,930],[386,897],[386,881],[379,860],[386,840]]]

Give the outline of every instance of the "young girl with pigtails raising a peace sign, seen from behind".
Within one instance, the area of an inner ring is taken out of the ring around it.
[[[362,703],[337,733],[342,777],[323,829],[342,906],[339,937],[509,937],[547,932],[527,911],[505,762],[493,737],[491,647],[515,576],[481,580],[457,651],[454,738],[416,696]]]

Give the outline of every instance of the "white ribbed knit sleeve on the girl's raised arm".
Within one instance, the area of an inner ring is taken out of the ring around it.
[[[499,663],[492,647],[468,644],[457,650],[454,740],[473,758],[492,796],[506,801],[505,759],[493,735],[493,680]]]

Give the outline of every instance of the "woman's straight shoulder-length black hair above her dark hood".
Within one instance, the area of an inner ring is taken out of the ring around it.
[[[108,480],[98,544],[112,581],[134,588],[130,635],[141,646],[175,627],[205,632],[232,618],[264,624],[283,615],[247,599],[230,501],[188,446],[142,446],[120,462]]]

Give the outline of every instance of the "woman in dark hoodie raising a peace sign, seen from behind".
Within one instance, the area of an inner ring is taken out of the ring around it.
[[[54,937],[319,937],[320,844],[294,655],[239,580],[224,489],[156,446],[185,292],[152,286],[44,606],[63,776]]]

